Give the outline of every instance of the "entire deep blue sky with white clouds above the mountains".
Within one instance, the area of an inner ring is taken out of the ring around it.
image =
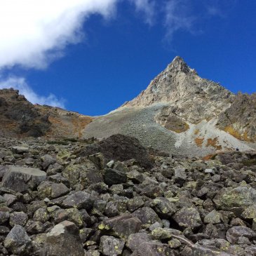
[[[3,13],[20,16],[7,25],[0,18],[0,28],[7,26],[7,36],[0,35],[0,87],[19,88],[32,102],[106,114],[180,55],[234,93],[256,91],[256,1],[65,1],[41,2],[45,27],[36,27],[39,15],[30,17],[32,1],[22,1],[24,10],[2,1]]]

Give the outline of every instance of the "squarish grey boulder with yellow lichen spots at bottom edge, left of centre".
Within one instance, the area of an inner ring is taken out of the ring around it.
[[[106,256],[122,255],[125,241],[114,236],[102,236],[100,238],[100,251]]]

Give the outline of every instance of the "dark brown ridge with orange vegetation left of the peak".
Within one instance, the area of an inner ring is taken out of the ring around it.
[[[90,116],[58,107],[32,105],[18,90],[0,90],[0,135],[76,139],[92,121]]]

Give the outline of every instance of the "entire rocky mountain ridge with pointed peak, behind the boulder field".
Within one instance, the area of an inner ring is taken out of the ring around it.
[[[256,94],[234,95],[202,79],[180,57],[135,99],[105,116],[32,105],[18,90],[0,90],[1,136],[87,139],[117,133],[144,147],[184,156],[256,148]]]

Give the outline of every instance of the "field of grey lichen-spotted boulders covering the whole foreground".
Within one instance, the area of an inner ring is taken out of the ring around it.
[[[256,255],[255,177],[252,151],[1,137],[0,255]]]

